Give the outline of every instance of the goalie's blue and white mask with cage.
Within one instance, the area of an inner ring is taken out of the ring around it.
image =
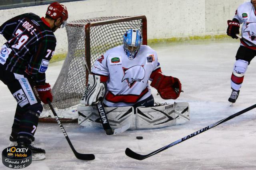
[[[140,30],[128,30],[123,37],[124,52],[129,59],[134,59],[140,51],[140,45],[142,43],[142,35]]]

